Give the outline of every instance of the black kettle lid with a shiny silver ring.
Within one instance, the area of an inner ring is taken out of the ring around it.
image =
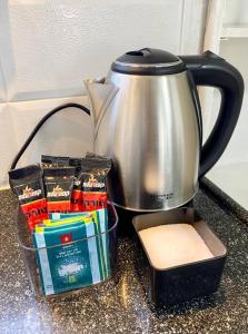
[[[182,60],[163,50],[143,48],[128,51],[120,56],[111,66],[115,72],[127,75],[170,75],[185,70]]]

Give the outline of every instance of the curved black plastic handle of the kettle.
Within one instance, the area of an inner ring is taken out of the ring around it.
[[[202,177],[220,158],[234,132],[242,104],[244,80],[234,66],[211,51],[180,58],[197,86],[212,86],[221,94],[219,115],[201,149],[199,177]]]

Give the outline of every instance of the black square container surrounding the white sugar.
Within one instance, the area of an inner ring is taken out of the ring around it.
[[[158,269],[152,265],[139,232],[150,227],[179,223],[189,224],[197,230],[211,252],[212,257]],[[170,212],[136,216],[132,225],[138,244],[137,273],[149,302],[156,306],[172,305],[194,297],[212,294],[218,289],[227,249],[195,209],[185,207]]]

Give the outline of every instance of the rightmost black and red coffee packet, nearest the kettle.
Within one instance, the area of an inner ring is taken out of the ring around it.
[[[106,177],[111,168],[110,159],[82,158],[82,210],[107,208]]]

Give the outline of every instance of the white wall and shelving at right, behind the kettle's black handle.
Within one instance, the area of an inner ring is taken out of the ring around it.
[[[244,102],[240,117],[231,140],[208,178],[248,209],[248,1],[227,0],[224,12],[224,33],[228,37],[219,40],[219,53],[236,66],[245,81]],[[238,29],[237,29],[238,28]],[[212,126],[218,112],[219,97],[215,94],[211,109],[210,125]]]

